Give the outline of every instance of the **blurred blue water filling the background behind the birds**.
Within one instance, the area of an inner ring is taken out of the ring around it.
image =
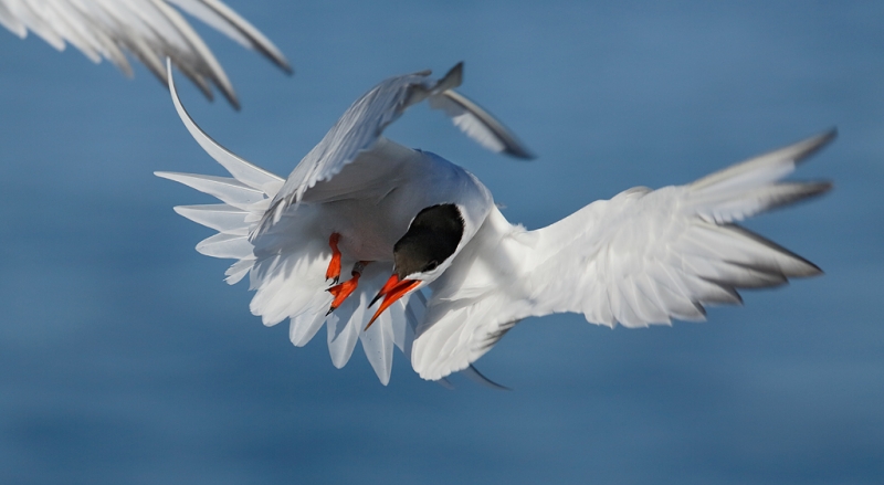
[[[378,383],[324,330],[249,313],[206,196],[222,175],[141,66],[0,32],[0,483],[880,484],[884,477],[884,2],[250,2],[287,77],[199,31],[243,109],[181,96],[215,139],[287,175],[380,80],[465,62],[462,92],[539,156],[488,154],[425,107],[389,130],[475,172],[528,228],[633,186],[694,180],[836,126],[797,178],[821,200],[747,225],[825,276],[610,330],[528,319],[477,363],[512,388]]]

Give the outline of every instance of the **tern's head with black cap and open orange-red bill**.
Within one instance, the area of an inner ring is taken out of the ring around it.
[[[464,219],[457,205],[443,203],[418,212],[406,234],[393,245],[393,274],[369,304],[383,298],[366,328],[396,301],[442,275],[463,235]]]

